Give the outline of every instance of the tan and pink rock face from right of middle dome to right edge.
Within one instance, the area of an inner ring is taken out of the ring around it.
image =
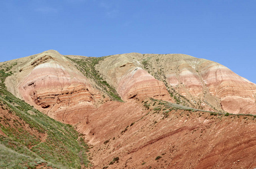
[[[210,111],[256,114],[256,85],[223,65],[182,54],[132,57],[144,63],[138,66],[164,82],[175,97],[172,99],[180,104]]]

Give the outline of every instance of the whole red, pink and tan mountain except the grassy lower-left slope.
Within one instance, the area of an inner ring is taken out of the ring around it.
[[[214,61],[49,50],[0,66],[6,92],[80,132],[93,168],[256,166],[256,84]]]

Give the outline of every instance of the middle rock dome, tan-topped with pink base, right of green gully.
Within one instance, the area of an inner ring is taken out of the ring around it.
[[[147,97],[172,101],[164,83],[142,69],[142,65],[132,58],[137,55],[141,54],[111,56],[99,64],[99,72],[105,74],[124,101]]]

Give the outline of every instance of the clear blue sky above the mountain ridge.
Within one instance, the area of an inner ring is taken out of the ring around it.
[[[256,83],[255,0],[0,0],[0,61],[187,54]]]

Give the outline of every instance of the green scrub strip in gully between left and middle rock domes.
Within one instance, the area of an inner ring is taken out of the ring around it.
[[[95,66],[99,64],[99,61],[105,59],[106,57],[108,56],[86,57],[85,59],[72,59],[70,57],[67,58],[79,65],[77,69],[79,69],[87,78],[92,79],[99,87],[99,90],[105,91],[107,95],[109,95],[112,99],[116,101],[123,101],[119,97],[118,92],[116,92],[115,88],[110,86],[110,84],[103,79],[102,75],[95,68]]]

